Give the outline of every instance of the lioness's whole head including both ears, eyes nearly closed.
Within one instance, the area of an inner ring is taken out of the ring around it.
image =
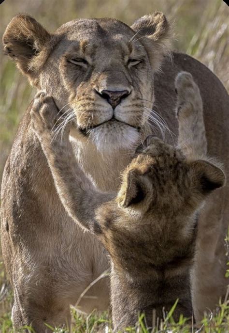
[[[15,16],[5,51],[31,84],[53,95],[82,136],[100,150],[129,148],[146,127],[154,72],[170,45],[161,13],[131,27],[116,19],[76,19],[48,33],[28,15]]]

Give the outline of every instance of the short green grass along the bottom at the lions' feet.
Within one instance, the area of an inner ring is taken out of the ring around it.
[[[175,306],[174,306],[175,308]],[[169,315],[161,322],[156,321],[153,328],[147,328],[145,325],[144,315],[140,315],[134,327],[128,327],[125,332],[128,333],[228,333],[229,332],[229,302],[219,304],[215,314],[209,312],[205,315],[199,325],[192,323],[192,320],[187,320],[185,317],[180,316],[178,322],[172,318],[171,310]],[[69,330],[55,328],[46,324],[55,333],[68,333]],[[35,331],[26,326],[22,328],[21,332],[27,329],[29,332]],[[0,332],[13,333],[12,322],[9,314],[0,318]],[[72,308],[72,333],[94,333],[104,332],[112,333],[112,321],[108,313],[103,313],[100,317],[95,314],[89,316],[80,315],[75,309]]]

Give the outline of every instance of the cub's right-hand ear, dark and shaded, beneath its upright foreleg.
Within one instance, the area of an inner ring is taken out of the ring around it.
[[[225,185],[224,172],[213,163],[205,160],[197,160],[191,164],[194,173],[194,181],[201,194],[207,195]]]

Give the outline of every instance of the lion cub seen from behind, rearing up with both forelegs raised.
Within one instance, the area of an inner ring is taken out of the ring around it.
[[[57,111],[51,97],[37,95],[31,113],[63,205],[110,255],[115,331],[134,325],[140,313],[151,325],[153,310],[162,318],[177,299],[173,318],[192,316],[198,213],[207,195],[225,183],[217,165],[199,159],[206,154],[206,139],[197,85],[188,73],[180,73],[175,85],[180,148],[146,138],[117,194],[100,192],[86,177],[68,132],[53,140]]]

